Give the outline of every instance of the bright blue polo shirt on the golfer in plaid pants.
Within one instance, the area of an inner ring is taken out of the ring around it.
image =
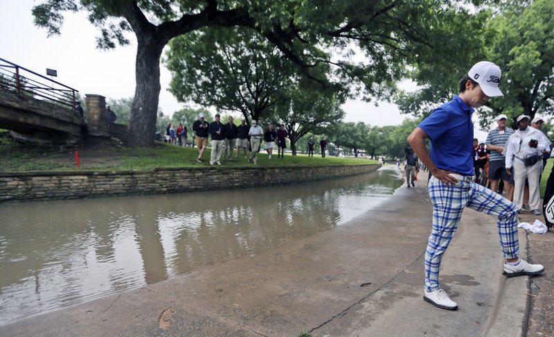
[[[431,112],[418,126],[431,139],[431,159],[446,171],[474,175],[472,147],[474,109],[457,95]]]

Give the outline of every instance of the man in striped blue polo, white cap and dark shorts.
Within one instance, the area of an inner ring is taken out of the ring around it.
[[[506,155],[503,155],[504,146],[508,137],[514,133],[512,128],[506,126],[508,123],[508,117],[506,114],[499,114],[497,116],[498,127],[491,130],[485,140],[487,144],[487,150],[490,151],[490,163],[489,163],[489,176],[490,189],[498,192],[499,182],[504,182],[504,191],[506,196],[511,195],[512,184],[509,183],[510,175],[506,171]],[[510,198],[508,198],[510,199]]]

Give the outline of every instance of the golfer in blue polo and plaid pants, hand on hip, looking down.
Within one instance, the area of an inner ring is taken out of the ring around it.
[[[538,275],[544,271],[543,266],[527,263],[518,257],[516,205],[474,182],[472,114],[475,107],[481,107],[490,97],[502,96],[498,87],[500,79],[501,71],[496,64],[475,64],[461,79],[460,94],[431,112],[408,137],[415,154],[432,174],[428,191],[433,217],[425,250],[423,299],[442,309],[458,309],[458,304],[440,288],[438,275],[443,254],[465,207],[498,216],[501,252],[506,258],[504,275]],[[431,140],[430,156],[425,147],[427,138]]]

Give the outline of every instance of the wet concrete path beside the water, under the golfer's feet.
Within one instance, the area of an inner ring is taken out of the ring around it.
[[[19,320],[0,336],[521,336],[528,277],[501,275],[491,216],[467,209],[443,259],[458,311],[422,300],[431,205],[417,184],[341,227]]]

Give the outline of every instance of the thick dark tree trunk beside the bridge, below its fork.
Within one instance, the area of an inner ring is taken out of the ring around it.
[[[131,146],[153,146],[160,94],[160,57],[163,43],[151,35],[139,39],[136,51],[136,88],[131,107],[128,141]],[[160,130],[161,132],[162,130]]]

